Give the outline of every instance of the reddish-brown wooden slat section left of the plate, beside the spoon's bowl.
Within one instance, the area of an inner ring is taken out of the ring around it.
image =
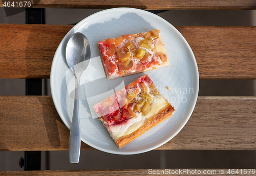
[[[49,78],[55,51],[71,28],[0,24],[0,78]]]

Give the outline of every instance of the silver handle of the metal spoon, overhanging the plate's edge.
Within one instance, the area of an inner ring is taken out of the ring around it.
[[[69,136],[69,160],[70,163],[78,163],[80,157],[81,147],[81,134],[80,134],[80,121],[79,121],[79,81],[75,89],[75,103],[74,111],[70,128]]]

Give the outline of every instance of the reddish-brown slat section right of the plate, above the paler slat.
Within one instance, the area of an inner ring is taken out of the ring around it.
[[[178,27],[201,79],[256,79],[256,27]]]

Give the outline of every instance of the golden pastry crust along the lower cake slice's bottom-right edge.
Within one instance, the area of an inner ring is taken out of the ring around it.
[[[166,100],[166,102],[167,102],[167,100]],[[157,114],[154,114],[153,116],[148,118],[139,129],[137,129],[136,131],[134,131],[133,133],[131,133],[129,135],[120,137],[119,139],[117,139],[115,141],[115,143],[117,144],[117,146],[119,148],[122,148],[126,144],[132,142],[133,140],[135,140],[136,138],[141,136],[146,131],[152,129],[157,124],[161,123],[165,119],[172,116],[174,111],[175,111],[174,107],[168,103],[168,105],[165,106],[160,112],[158,112]]]

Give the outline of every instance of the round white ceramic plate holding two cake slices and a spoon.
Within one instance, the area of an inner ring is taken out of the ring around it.
[[[167,50],[169,66],[117,80],[106,80],[99,60],[100,52],[97,42],[106,38],[116,38],[124,34],[135,34],[152,29],[161,31],[160,35]],[[51,68],[51,93],[57,112],[69,129],[74,99],[70,95],[72,82],[66,78],[69,67],[66,63],[65,51],[68,39],[75,32],[81,32],[89,39],[92,58],[94,58],[90,66],[92,70],[96,70],[82,76],[83,83],[80,92],[86,93],[86,98],[81,98],[79,101],[83,142],[108,153],[139,154],[161,146],[180,132],[197,101],[199,74],[196,59],[186,40],[170,23],[153,13],[133,8],[114,8],[95,13],[76,24],[60,42]],[[172,117],[119,149],[102,123],[92,117],[88,98],[100,96],[102,100],[104,97],[101,95],[106,90],[110,90],[108,95],[111,95],[113,88],[122,81],[127,85],[145,73],[150,76],[160,93],[175,107],[176,112]],[[166,86],[169,89],[166,89]],[[101,95],[97,96],[98,94]]]

